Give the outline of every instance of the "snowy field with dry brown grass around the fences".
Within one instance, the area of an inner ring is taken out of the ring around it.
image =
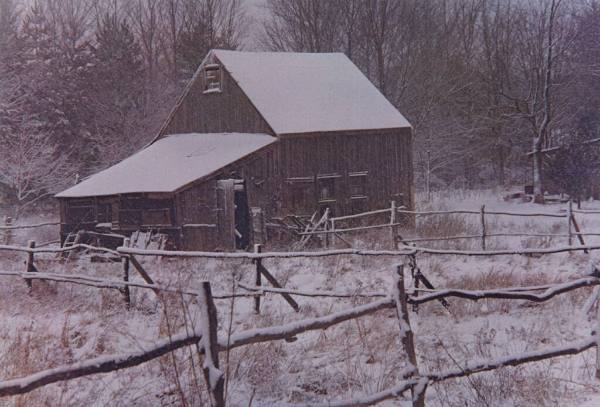
[[[438,194],[419,210],[510,210],[559,213],[563,205],[504,202],[500,192]],[[420,202],[417,199],[417,202]],[[585,202],[583,208],[600,208]],[[576,215],[584,231],[600,232],[600,215]],[[36,217],[19,223],[47,221]],[[477,234],[477,215],[423,218],[416,234],[403,236],[450,236]],[[489,233],[566,233],[560,218],[491,216]],[[15,243],[25,244],[55,238],[52,228],[16,233]],[[390,248],[389,231],[356,236],[355,247]],[[488,249],[549,248],[566,245],[566,237],[489,238]],[[587,239],[600,244],[600,238]],[[424,247],[478,250],[480,240],[420,243]],[[417,257],[422,272],[436,287],[491,289],[539,285],[572,280],[589,272],[595,255],[583,252],[542,257],[462,257],[424,255]],[[23,270],[22,254],[2,253],[0,270]],[[213,292],[235,289],[235,281],[254,282],[249,260],[174,260],[140,258],[158,282],[173,287],[198,288],[211,281]],[[40,271],[80,273],[120,278],[120,264],[78,261],[61,263],[53,255],[36,255]],[[393,257],[337,256],[312,259],[268,259],[263,264],[287,288],[338,292],[389,291],[392,276],[404,259]],[[133,273],[135,274],[135,273]],[[134,277],[137,278],[137,275]],[[240,290],[238,288],[238,290]],[[242,292],[242,291],[239,291]],[[450,299],[447,311],[432,302],[411,313],[419,368],[441,371],[461,368],[469,361],[490,359],[549,348],[589,337],[595,312],[582,308],[592,292],[583,288],[551,301]],[[300,312],[294,312],[277,295],[262,299],[260,315],[252,298],[216,300],[219,335],[254,327],[278,325],[326,315],[372,301],[364,298],[319,299],[298,297]],[[125,310],[114,290],[34,281],[29,291],[18,278],[3,277],[0,285],[0,377],[17,378],[36,371],[89,359],[99,355],[144,348],[170,334],[185,332],[197,320],[197,306],[175,294],[156,299],[153,292],[132,289],[132,307]],[[385,390],[401,381],[406,360],[399,343],[398,320],[393,310],[351,320],[325,331],[298,335],[294,342],[275,341],[221,353],[221,367],[228,378],[228,405],[269,406],[325,403]],[[502,368],[432,385],[427,391],[430,406],[594,406],[600,398],[595,375],[595,352],[549,361]],[[138,367],[94,375],[35,390],[27,395],[0,399],[0,405],[147,406],[206,405],[201,361],[193,347],[185,348]],[[398,405],[396,401],[381,403]],[[402,405],[410,405],[405,401]]]

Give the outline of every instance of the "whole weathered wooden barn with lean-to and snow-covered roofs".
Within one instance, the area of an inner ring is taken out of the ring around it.
[[[412,171],[410,124],[344,54],[213,50],[148,146],[56,195],[61,239],[243,249],[259,218],[412,208]]]

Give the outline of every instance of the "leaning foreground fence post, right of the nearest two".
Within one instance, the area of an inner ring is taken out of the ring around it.
[[[396,315],[400,325],[400,341],[404,352],[408,356],[408,361],[414,367],[413,376],[419,375],[419,367],[417,364],[417,354],[415,352],[415,343],[412,328],[410,326],[410,318],[408,316],[408,303],[406,300],[406,288],[404,287],[404,265],[399,265],[396,269],[394,287],[394,301],[396,303]],[[413,407],[425,407],[425,391],[424,387],[420,392],[415,394],[415,388],[411,388],[412,405]]]

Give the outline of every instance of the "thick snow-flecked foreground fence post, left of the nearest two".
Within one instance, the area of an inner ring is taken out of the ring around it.
[[[219,370],[219,343],[217,336],[217,308],[213,301],[210,283],[202,282],[202,342],[204,343],[204,364],[202,370],[208,387],[211,406],[224,407],[225,380],[223,372]]]

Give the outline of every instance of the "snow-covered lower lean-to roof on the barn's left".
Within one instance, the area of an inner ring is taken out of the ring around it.
[[[174,134],[59,193],[57,198],[174,192],[277,139],[267,134]]]

